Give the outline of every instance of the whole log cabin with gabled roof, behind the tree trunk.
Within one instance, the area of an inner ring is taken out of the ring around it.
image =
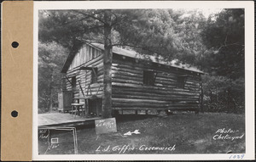
[[[101,116],[103,94],[101,43],[84,43],[70,53],[63,74],[60,110],[70,110],[74,98],[84,98],[87,114]],[[121,47],[113,47],[112,100],[114,112],[192,110],[201,103],[203,72],[188,64],[166,62]]]

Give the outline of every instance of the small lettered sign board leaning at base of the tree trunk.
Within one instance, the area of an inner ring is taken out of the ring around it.
[[[95,120],[96,134],[117,132],[115,118]]]

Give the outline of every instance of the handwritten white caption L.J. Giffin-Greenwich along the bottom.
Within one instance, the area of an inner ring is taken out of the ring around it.
[[[110,146],[108,145],[107,147],[102,147],[99,146],[98,148],[96,148],[96,152],[117,152],[119,154],[125,154],[126,152],[129,151],[134,151],[134,150],[138,150],[138,151],[174,151],[175,150],[175,146],[170,146],[170,147],[159,147],[159,146],[153,146],[153,147],[148,147],[146,145],[141,145],[139,147],[134,147],[132,145],[118,145],[118,146]]]

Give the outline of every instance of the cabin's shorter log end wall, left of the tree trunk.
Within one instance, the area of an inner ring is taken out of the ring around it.
[[[85,50],[84,50],[85,51]],[[82,56],[81,56],[82,57]],[[97,68],[97,83],[90,83],[91,80],[91,73],[92,70],[79,70],[82,66],[89,66],[89,67],[96,67]],[[69,81],[72,81],[72,76],[76,76],[76,90],[73,91],[72,85]],[[90,92],[92,95],[102,95],[102,85],[103,85],[103,55],[100,54],[96,56],[94,59],[90,59],[90,61],[87,61],[84,64],[79,64],[78,66],[74,67],[73,69],[67,70],[67,77],[69,81],[67,82],[67,90],[73,91],[74,97],[79,98],[83,97],[84,95],[87,96],[88,91],[88,85],[90,85]],[[81,88],[79,87],[79,81],[81,84],[81,87],[83,89],[83,92],[81,91]],[[90,92],[88,95],[90,95]]]

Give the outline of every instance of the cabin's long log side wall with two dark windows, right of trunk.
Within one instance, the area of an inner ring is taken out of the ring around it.
[[[143,85],[143,70],[154,70],[154,86]],[[184,88],[177,76],[188,75]],[[113,109],[198,109],[201,75],[113,54]]]

